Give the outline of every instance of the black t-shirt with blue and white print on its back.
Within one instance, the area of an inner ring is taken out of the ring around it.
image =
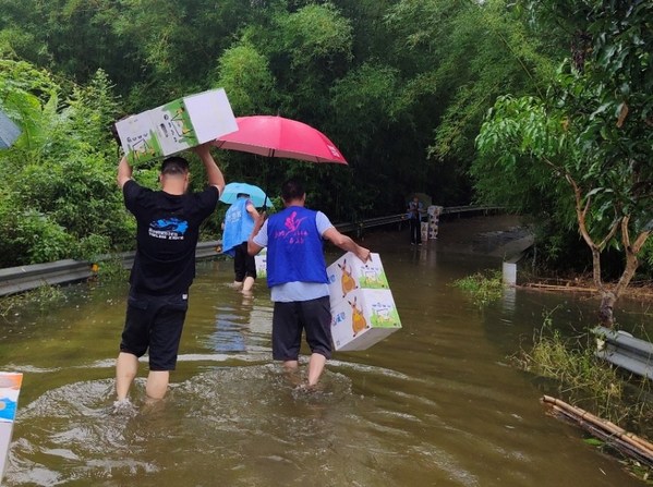
[[[128,181],[124,206],[136,217],[136,256],[130,276],[132,290],[145,294],[188,292],[195,278],[199,224],[216,208],[218,190],[171,195]]]

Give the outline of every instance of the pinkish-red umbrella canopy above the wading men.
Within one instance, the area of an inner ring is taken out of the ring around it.
[[[218,137],[213,144],[259,156],[347,163],[326,135],[303,122],[274,115],[239,117],[235,122],[237,132]]]

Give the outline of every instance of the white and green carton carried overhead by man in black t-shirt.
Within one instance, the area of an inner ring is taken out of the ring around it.
[[[178,98],[116,122],[130,165],[170,156],[238,131],[225,89]]]

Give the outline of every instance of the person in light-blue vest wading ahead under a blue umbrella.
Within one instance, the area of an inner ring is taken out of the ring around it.
[[[233,285],[244,294],[251,292],[256,279],[256,263],[254,256],[247,254],[247,239],[257,218],[258,211],[245,193],[237,195],[225,215],[222,254],[233,257]]]

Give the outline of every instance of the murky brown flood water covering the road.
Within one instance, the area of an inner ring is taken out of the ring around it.
[[[501,258],[374,245],[403,328],[335,353],[314,393],[271,361],[269,292],[230,289],[229,261],[198,263],[178,369],[154,407],[142,364],[135,409],[111,412],[124,284],[68,287],[55,309],[8,317],[0,369],[24,379],[2,485],[643,485],[548,416],[537,378],[508,358],[547,312],[593,322],[594,301],[517,290],[480,309],[451,283]]]

